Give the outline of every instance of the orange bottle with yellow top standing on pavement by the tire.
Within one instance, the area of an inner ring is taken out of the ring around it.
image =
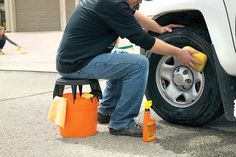
[[[143,119],[143,141],[151,142],[156,140],[156,121],[150,118],[150,108],[152,101],[145,102],[145,111]]]

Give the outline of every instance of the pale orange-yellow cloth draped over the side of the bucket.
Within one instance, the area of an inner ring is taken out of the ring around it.
[[[48,119],[64,128],[66,119],[66,101],[63,97],[56,96],[48,112]]]

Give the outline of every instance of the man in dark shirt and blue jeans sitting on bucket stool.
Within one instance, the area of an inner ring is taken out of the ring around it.
[[[149,36],[143,28],[164,33],[178,25],[160,26],[132,6],[139,0],[81,0],[73,11],[57,54],[64,78],[107,79],[98,122],[109,123],[112,135],[142,136],[138,116],[148,77],[148,60],[113,49],[118,36],[153,53],[172,55],[183,65],[199,63],[190,51]],[[112,50],[113,49],[113,50]],[[199,63],[201,64],[201,63]]]

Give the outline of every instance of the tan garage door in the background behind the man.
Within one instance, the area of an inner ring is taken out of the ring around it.
[[[16,31],[58,31],[59,0],[15,0]]]

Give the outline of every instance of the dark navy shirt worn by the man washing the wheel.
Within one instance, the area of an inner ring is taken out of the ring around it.
[[[61,73],[72,73],[94,57],[110,53],[118,36],[145,49],[155,43],[133,16],[126,0],[81,0],[73,11],[57,52]]]

